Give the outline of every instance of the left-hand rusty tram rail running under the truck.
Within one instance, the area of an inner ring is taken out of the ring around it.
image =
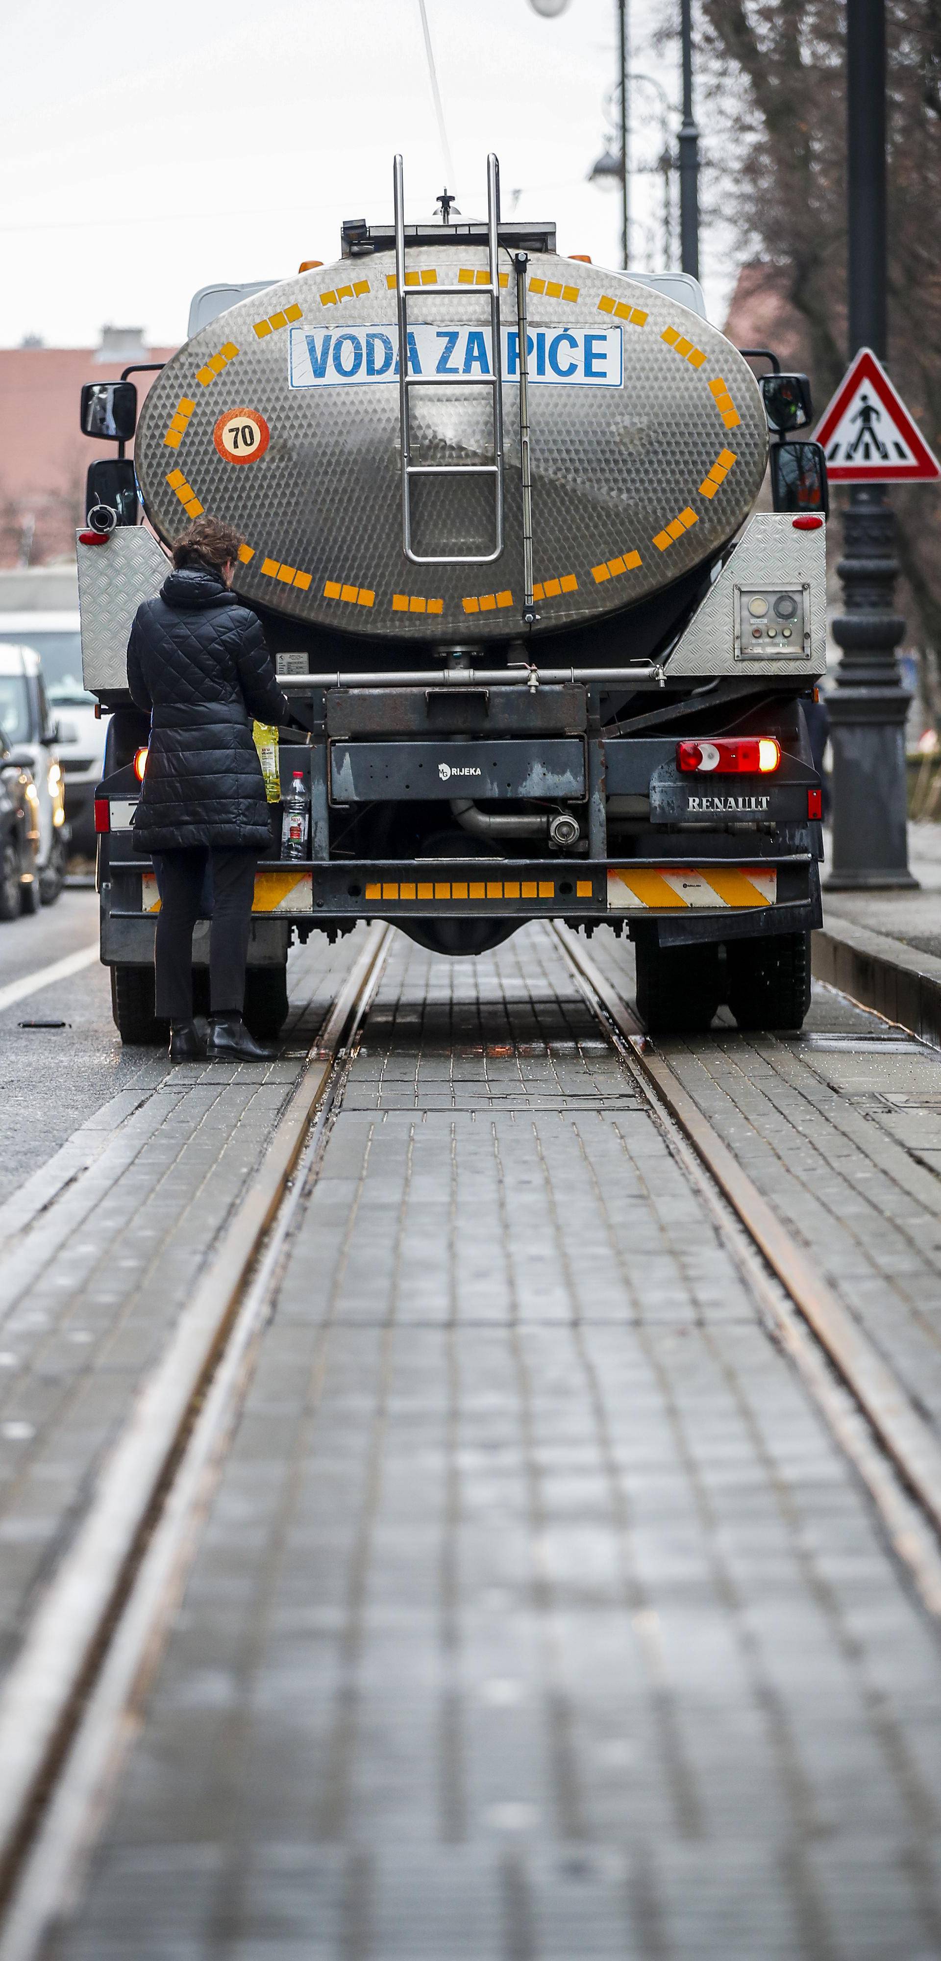
[[[0,1961],[37,1951],[178,1600],[329,1110],[382,977],[369,928],[269,1151],[141,1390],[0,1694]]]

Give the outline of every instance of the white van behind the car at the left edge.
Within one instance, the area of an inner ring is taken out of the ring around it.
[[[39,655],[45,692],[59,726],[55,747],[63,773],[69,847],[94,857],[94,786],[102,777],[108,718],[96,718],[96,698],[82,682],[78,610],[0,610],[0,653],[6,645],[25,645]]]

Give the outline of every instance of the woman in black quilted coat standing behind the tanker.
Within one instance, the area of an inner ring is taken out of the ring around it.
[[[229,592],[243,539],[198,518],[173,547],[174,571],[137,608],[127,682],[151,714],[133,835],[153,855],[157,1014],[171,1022],[171,1061],[206,1053],[267,1061],[243,1020],[245,959],[259,853],[271,845],[253,720],[292,722],[259,620]],[[210,1035],[192,1020],[192,928],[212,873]]]

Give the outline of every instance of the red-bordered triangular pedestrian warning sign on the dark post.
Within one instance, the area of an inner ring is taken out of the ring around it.
[[[933,482],[941,463],[870,347],[861,347],[823,410],[817,443],[843,484]]]

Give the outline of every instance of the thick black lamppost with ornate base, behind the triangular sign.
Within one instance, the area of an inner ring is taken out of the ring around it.
[[[847,8],[849,355],[886,357],[886,0]],[[906,716],[892,610],[896,514],[884,482],[855,480],[839,561],[843,649],[827,696],[833,745],[833,869],[827,890],[916,886],[908,869]]]

